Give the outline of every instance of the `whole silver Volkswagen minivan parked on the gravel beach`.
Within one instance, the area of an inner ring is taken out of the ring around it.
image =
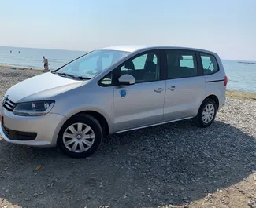
[[[228,79],[217,53],[170,46],[97,49],[12,86],[0,107],[2,137],[94,153],[109,134],[195,119],[210,126]]]

